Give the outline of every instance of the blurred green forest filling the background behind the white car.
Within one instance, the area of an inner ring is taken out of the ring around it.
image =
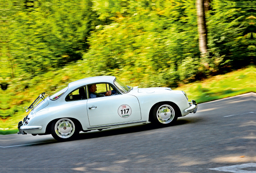
[[[0,8],[1,130],[17,126],[39,94],[77,79],[177,88],[255,64],[253,0],[1,0]]]

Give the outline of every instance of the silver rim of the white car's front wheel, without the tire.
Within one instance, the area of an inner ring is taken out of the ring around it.
[[[170,123],[174,119],[174,116],[174,109],[168,104],[160,106],[156,112],[156,117],[158,121],[162,124]]]

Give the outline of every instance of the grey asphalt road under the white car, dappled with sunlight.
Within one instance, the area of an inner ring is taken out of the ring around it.
[[[243,94],[199,104],[174,126],[80,132],[63,143],[51,135],[0,135],[0,172],[256,173],[255,105],[256,94]]]

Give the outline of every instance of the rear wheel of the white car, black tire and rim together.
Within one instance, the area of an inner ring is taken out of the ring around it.
[[[56,119],[51,125],[52,137],[60,142],[76,139],[79,132],[78,123],[70,118]]]

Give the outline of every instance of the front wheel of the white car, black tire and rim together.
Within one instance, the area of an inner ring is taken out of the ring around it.
[[[175,124],[180,114],[180,109],[176,104],[172,102],[160,102],[153,108],[150,120],[157,126],[170,126]]]

